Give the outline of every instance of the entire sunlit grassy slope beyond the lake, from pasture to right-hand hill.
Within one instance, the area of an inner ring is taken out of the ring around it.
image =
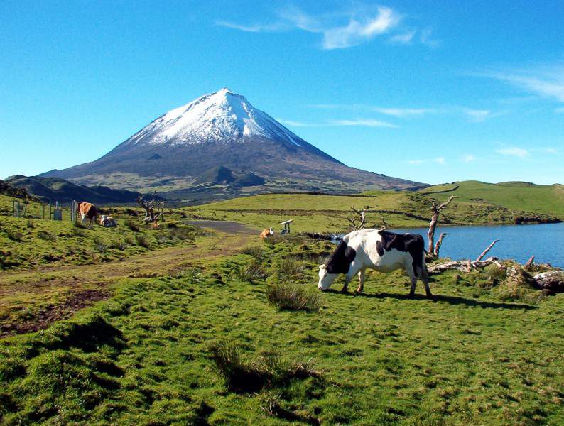
[[[564,190],[561,185],[544,187],[527,184],[437,185],[419,192],[371,191],[362,195],[268,194],[239,197],[205,204],[187,210],[195,217],[229,219],[273,226],[294,219],[296,231],[340,232],[347,229],[345,219],[350,207],[370,206],[369,226],[381,224],[384,217],[390,226],[425,226],[433,201],[443,202],[450,195],[460,195],[441,216],[447,225],[512,224],[564,219]]]

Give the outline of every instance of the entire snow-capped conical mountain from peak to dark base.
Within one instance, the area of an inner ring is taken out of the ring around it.
[[[237,185],[218,189],[217,180],[209,179],[209,170],[215,168],[227,168],[236,176],[254,173],[257,183],[264,180],[246,192],[426,186],[349,168],[229,89],[168,111],[92,163],[43,176],[86,185],[158,190],[175,197],[197,193],[200,198],[223,198],[239,193]]]

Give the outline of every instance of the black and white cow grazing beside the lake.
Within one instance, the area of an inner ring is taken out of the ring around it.
[[[411,280],[410,296],[415,293],[417,280],[425,285],[427,297],[433,297],[429,289],[427,268],[425,267],[425,243],[417,234],[394,234],[378,229],[362,229],[345,235],[325,265],[319,267],[320,290],[327,290],[337,275],[347,274],[342,291],[354,275],[358,274],[359,287],[364,288],[364,272],[374,269],[379,272],[391,272],[405,269]]]

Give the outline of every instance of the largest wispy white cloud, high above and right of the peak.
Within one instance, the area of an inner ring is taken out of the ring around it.
[[[372,11],[367,7],[357,6],[346,12],[326,13],[322,16],[311,16],[304,11],[288,6],[278,11],[278,21],[268,24],[241,24],[231,21],[216,21],[224,26],[239,31],[259,33],[261,31],[290,31],[298,29],[308,33],[320,34],[321,48],[325,50],[350,48],[372,40],[378,35],[390,33],[392,43],[409,44],[414,40],[416,29],[406,29],[400,25],[403,16],[386,6],[378,6]],[[394,33],[396,32],[396,33]],[[435,45],[430,39],[430,30],[420,33],[420,40],[425,45]]]

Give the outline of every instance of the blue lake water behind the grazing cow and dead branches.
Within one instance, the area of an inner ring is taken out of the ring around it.
[[[427,246],[427,228],[390,229],[390,231],[421,234]],[[551,263],[564,268],[564,223],[508,226],[449,226],[437,228],[435,241],[441,232],[448,232],[440,248],[440,257],[460,261],[474,260],[494,240],[497,244],[487,253],[501,259],[524,263],[532,255],[539,263]]]

